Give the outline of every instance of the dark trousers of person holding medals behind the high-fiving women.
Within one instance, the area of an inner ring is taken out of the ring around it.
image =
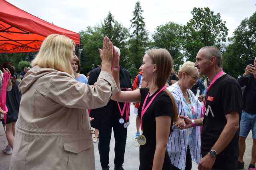
[[[124,163],[124,152],[127,137],[127,128],[124,128],[124,124],[120,124],[118,120],[114,119],[112,123],[114,137],[115,137],[115,166],[122,166]],[[109,168],[109,145],[112,133],[112,127],[104,127],[99,129],[99,153],[100,164],[102,168]]]

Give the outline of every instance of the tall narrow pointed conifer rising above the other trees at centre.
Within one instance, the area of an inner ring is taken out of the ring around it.
[[[136,2],[135,10],[132,12],[134,17],[130,20],[133,31],[129,40],[130,59],[136,68],[139,68],[142,64],[142,58],[148,45],[148,32],[145,28],[142,12],[140,2]]]

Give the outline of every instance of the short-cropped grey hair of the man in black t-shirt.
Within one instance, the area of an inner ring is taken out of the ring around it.
[[[202,47],[199,51],[204,51],[204,57],[210,59],[210,57],[216,57],[216,63],[218,67],[221,67],[222,56],[220,50],[215,46],[205,46]]]

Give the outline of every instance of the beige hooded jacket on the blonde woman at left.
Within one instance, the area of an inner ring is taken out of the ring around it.
[[[20,83],[22,98],[10,170],[94,170],[86,109],[106,106],[118,92],[101,71],[94,86],[69,74],[35,66]]]

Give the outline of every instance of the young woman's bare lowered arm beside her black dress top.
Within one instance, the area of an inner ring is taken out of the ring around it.
[[[170,126],[172,118],[170,116],[156,117],[156,151],[152,170],[162,170],[164,156],[170,135]]]

